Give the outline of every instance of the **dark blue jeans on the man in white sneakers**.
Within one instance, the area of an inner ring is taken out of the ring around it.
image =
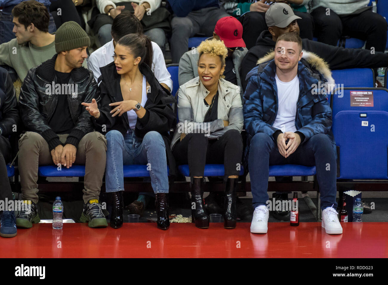
[[[321,209],[331,207],[333,204],[334,209],[337,207],[337,161],[333,143],[325,134],[312,136],[299,145],[293,154],[284,158],[270,136],[265,133],[257,133],[251,140],[248,164],[253,196],[252,203],[255,208],[259,205],[266,205],[269,166],[279,164],[315,165],[321,194]]]

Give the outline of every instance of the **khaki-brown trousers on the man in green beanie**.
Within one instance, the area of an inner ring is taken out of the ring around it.
[[[68,135],[58,135],[64,143]],[[19,172],[23,199],[38,202],[38,166],[54,165],[46,140],[28,131],[19,140]],[[74,164],[85,165],[83,201],[99,199],[106,164],[106,138],[94,131],[86,134],[77,147]],[[62,166],[64,167],[64,166]]]

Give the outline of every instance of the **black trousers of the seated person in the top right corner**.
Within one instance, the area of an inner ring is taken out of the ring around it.
[[[333,10],[326,15],[326,8],[318,7],[311,12],[318,41],[336,46],[342,35],[365,40],[365,49],[375,48],[384,52],[387,41],[387,22],[383,16],[366,10],[357,15],[338,16]]]

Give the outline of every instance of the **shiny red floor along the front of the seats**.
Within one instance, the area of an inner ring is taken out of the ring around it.
[[[264,235],[250,233],[249,226],[173,223],[163,231],[154,223],[125,223],[117,230],[76,223],[58,231],[38,224],[0,238],[0,257],[388,257],[388,223],[345,223],[342,235],[326,234],[320,223],[269,223]]]

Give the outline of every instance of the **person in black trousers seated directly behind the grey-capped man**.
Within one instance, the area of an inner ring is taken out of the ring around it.
[[[224,2],[225,2],[225,4],[223,5],[223,7],[225,9],[227,9],[226,5],[228,5],[228,6],[231,5],[230,1],[224,0]],[[235,1],[235,2],[241,3],[244,1],[240,0],[240,1]],[[246,3],[238,4],[238,5],[241,5],[241,8],[240,8],[241,11],[239,11],[241,13],[241,17],[239,17],[239,21],[241,22],[242,29],[244,31],[242,34],[242,39],[246,43],[246,47],[248,49],[255,46],[256,40],[257,40],[258,36],[260,35],[260,33],[264,30],[267,30],[267,28],[269,26],[268,24],[266,24],[266,19],[265,19],[266,12],[269,9],[274,9],[273,8],[274,5],[277,6],[279,4],[284,5],[280,12],[282,12],[282,10],[286,7],[285,8],[286,10],[284,10],[286,13],[290,13],[290,11],[291,11],[291,13],[293,15],[295,13],[296,16],[298,16],[298,18],[297,18],[298,24],[303,27],[300,31],[301,38],[308,38],[310,40],[313,39],[313,31],[314,31],[313,25],[314,24],[313,24],[312,16],[310,14],[305,13],[305,12],[301,12],[299,10],[298,11],[296,10],[293,12],[293,9],[285,3],[273,3],[271,5],[267,5],[267,4],[265,4],[266,2],[270,3],[272,1],[264,1],[264,0],[257,1],[255,3],[251,3],[249,5],[248,12],[245,12],[244,8],[246,8],[248,5],[244,5],[244,4],[249,4],[249,2],[254,2],[254,1],[247,0],[245,2]],[[292,0],[292,1],[288,1],[288,2],[294,3],[296,1]],[[306,0],[304,0],[302,2],[302,4],[305,2],[306,2]],[[235,3],[235,5],[237,5],[237,3]],[[296,6],[296,7],[303,7],[303,6]],[[230,14],[232,14],[233,16],[237,16],[236,11],[233,12],[232,10],[227,9],[227,12],[230,12]]]

